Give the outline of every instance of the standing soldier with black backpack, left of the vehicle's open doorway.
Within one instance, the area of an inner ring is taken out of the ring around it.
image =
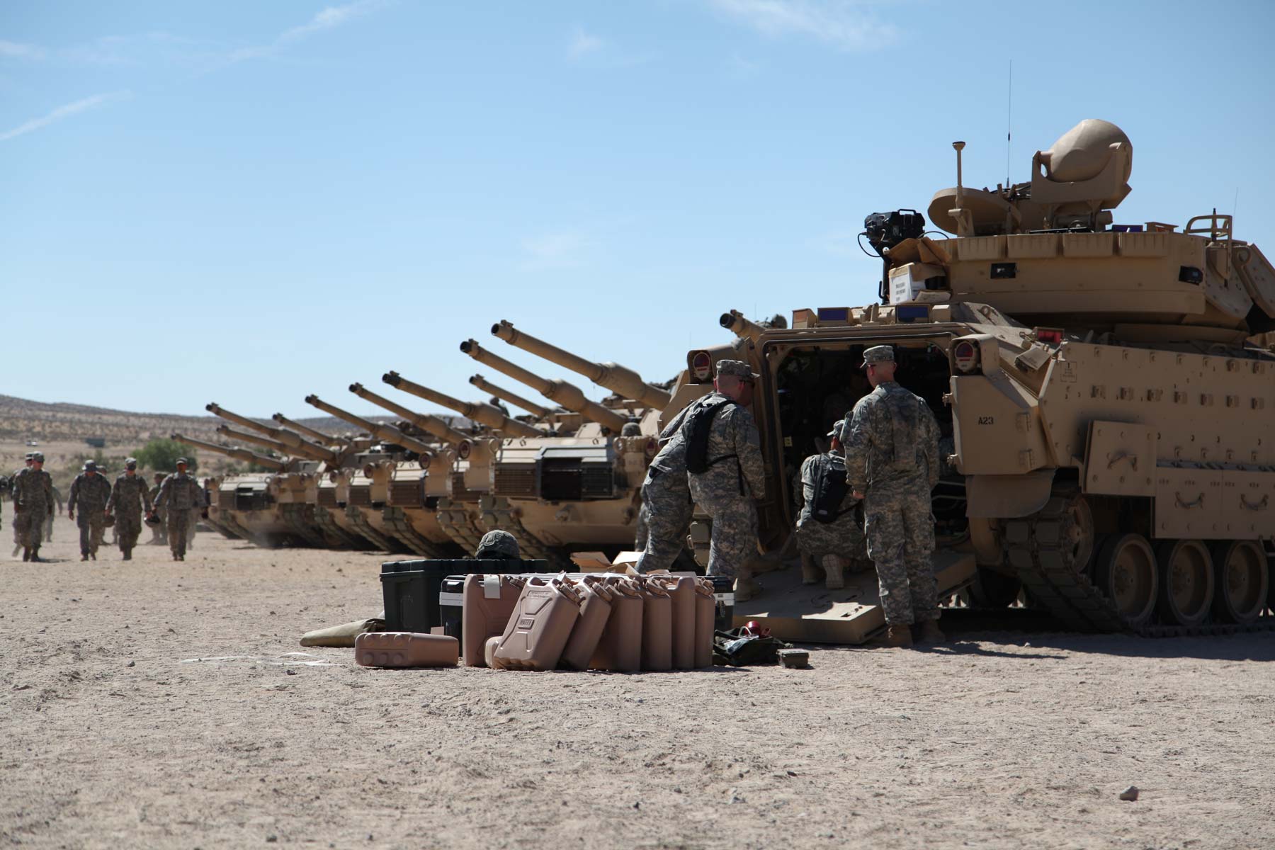
[[[704,473],[687,473],[691,497],[713,519],[709,544],[710,576],[737,577],[736,601],[756,591],[746,561],[757,553],[757,507],[754,500],[766,491],[765,466],[757,423],[748,412],[752,385],[757,378],[743,361],[718,361],[715,391],[704,404],[731,399],[709,428],[708,461]],[[687,431],[683,419],[682,433]],[[688,436],[688,435],[687,435]],[[655,511],[652,510],[654,521]]]

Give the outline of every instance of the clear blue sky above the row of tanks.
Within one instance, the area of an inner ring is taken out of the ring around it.
[[[370,412],[346,386],[389,368],[529,393],[473,336],[603,395],[500,319],[663,380],[732,307],[871,301],[863,217],[924,210],[952,140],[969,185],[1003,181],[1011,61],[1012,180],[1107,119],[1133,143],[1117,222],[1234,208],[1270,254],[1271,9],[6,4],[0,393]]]

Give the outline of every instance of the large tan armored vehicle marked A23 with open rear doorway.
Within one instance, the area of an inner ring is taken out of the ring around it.
[[[1012,186],[937,192],[870,215],[882,303],[793,312],[790,329],[722,316],[738,338],[687,354],[664,415],[713,364],[761,375],[761,544],[796,519],[793,472],[868,391],[863,350],[892,345],[900,384],[943,433],[940,554],[965,551],[986,600],[1026,590],[1077,630],[1269,627],[1275,538],[1275,269],[1232,218],[1119,224],[1132,145],[1086,120]]]

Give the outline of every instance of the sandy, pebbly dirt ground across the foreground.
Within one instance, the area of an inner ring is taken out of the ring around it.
[[[370,670],[297,638],[376,613],[379,554],[76,548],[62,517],[55,562],[0,561],[5,844],[1275,839],[1272,636],[966,630],[932,651],[816,650],[808,670]],[[1130,784],[1136,803],[1117,799]]]

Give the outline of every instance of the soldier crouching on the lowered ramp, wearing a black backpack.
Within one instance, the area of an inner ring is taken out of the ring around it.
[[[825,587],[845,586],[848,562],[867,556],[858,500],[845,480],[845,457],[840,433],[843,422],[827,435],[833,443],[826,452],[811,455],[801,465],[802,508],[797,517],[797,547],[801,549],[802,584],[820,580]]]

